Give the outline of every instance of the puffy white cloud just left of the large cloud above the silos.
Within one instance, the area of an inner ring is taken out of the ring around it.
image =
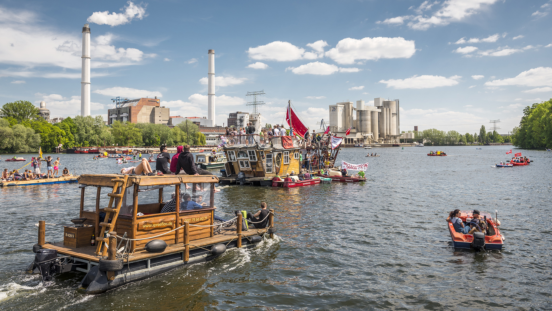
[[[326,45],[328,44],[322,40],[309,43],[307,46],[310,46],[314,51],[307,52],[304,48],[299,48],[299,46],[295,46],[289,42],[274,41],[266,45],[259,45],[256,48],[249,48],[247,54],[251,59],[256,60],[292,61],[317,59],[323,56],[323,48]]]

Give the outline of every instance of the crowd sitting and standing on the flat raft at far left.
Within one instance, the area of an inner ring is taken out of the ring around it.
[[[46,162],[46,173],[40,172],[40,167],[42,162]],[[17,182],[19,180],[35,180],[35,179],[47,179],[47,178],[60,178],[71,176],[69,170],[64,168],[61,175],[59,174],[60,168],[60,158],[57,157],[56,160],[48,155],[45,159],[39,157],[31,158],[29,163],[32,169],[25,169],[25,172],[20,173],[19,170],[23,169],[14,169],[11,172],[7,168],[4,168],[2,172],[2,182]],[[26,165],[25,165],[26,166]]]

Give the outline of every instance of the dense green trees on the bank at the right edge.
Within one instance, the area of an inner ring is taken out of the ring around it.
[[[552,147],[552,99],[523,110],[519,126],[512,130],[512,143],[524,149]]]

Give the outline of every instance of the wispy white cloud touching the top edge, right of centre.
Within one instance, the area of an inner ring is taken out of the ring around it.
[[[415,30],[427,30],[434,26],[444,26],[451,22],[458,22],[473,14],[479,13],[486,5],[493,4],[497,0],[446,0],[443,2],[440,9],[431,14],[424,15],[422,11],[431,9],[436,2],[424,1],[421,6],[415,9],[418,15],[405,15],[395,18],[388,18],[383,22],[385,24],[402,24],[405,20],[408,22],[408,27]],[[412,7],[411,7],[412,8]]]

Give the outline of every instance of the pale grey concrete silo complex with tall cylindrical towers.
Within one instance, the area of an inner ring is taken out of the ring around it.
[[[330,105],[330,131],[345,137],[344,143],[398,143],[399,100],[374,99],[374,106],[363,100]],[[354,118],[356,117],[356,119]],[[347,129],[351,128],[349,135]]]

